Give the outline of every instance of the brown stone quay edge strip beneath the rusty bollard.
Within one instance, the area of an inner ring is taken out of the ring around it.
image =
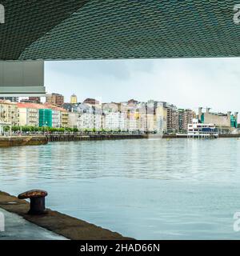
[[[0,208],[18,214],[26,221],[70,240],[134,240],[134,238],[123,237],[122,234],[117,232],[106,230],[100,226],[50,209],[47,209],[46,214],[42,215],[27,214],[30,208],[29,202],[2,191],[0,191]]]

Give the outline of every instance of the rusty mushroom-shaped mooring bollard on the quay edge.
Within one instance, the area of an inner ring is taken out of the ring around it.
[[[40,215],[46,212],[45,197],[47,192],[44,190],[29,190],[18,195],[19,199],[30,198],[30,210],[28,214]]]

